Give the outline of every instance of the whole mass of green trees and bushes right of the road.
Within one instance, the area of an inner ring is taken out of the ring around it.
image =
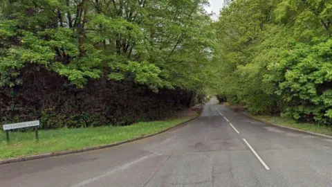
[[[236,0],[216,22],[217,92],[256,114],[332,124],[332,1]]]

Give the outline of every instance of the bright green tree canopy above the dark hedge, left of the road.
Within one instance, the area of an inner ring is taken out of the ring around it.
[[[35,64],[77,87],[132,80],[151,89],[196,89],[214,51],[206,0],[3,0],[0,85],[22,84]]]

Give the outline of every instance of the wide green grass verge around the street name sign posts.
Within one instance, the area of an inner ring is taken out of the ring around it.
[[[35,142],[34,132],[10,132],[10,145],[6,142],[6,133],[0,133],[0,159],[76,150],[80,148],[104,145],[118,141],[153,134],[173,127],[192,117],[167,121],[136,123],[124,127],[89,127],[80,129],[39,130],[39,142]]]

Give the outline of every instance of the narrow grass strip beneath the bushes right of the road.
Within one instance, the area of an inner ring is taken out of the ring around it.
[[[252,116],[261,121],[265,121],[267,123],[272,123],[275,125],[280,125],[284,127],[293,127],[298,130],[305,130],[309,132],[316,132],[320,134],[326,134],[332,136],[332,127],[326,125],[317,125],[313,123],[296,123],[295,120],[289,118],[282,118],[279,116]]]

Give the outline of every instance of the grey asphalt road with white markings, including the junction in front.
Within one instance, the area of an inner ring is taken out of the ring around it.
[[[332,139],[212,100],[199,118],[148,139],[0,165],[0,186],[332,186]]]

